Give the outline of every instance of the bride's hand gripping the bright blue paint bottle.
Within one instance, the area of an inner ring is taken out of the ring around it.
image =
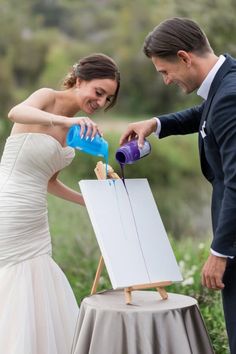
[[[74,117],[65,120],[66,128],[70,128],[74,124],[80,125],[81,136],[90,137],[92,139],[97,133],[100,136],[103,135],[97,124],[89,117]]]

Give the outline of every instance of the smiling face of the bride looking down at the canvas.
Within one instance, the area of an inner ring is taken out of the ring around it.
[[[76,96],[80,110],[93,114],[109,104],[115,95],[117,82],[112,79],[94,79],[85,81],[77,79]]]

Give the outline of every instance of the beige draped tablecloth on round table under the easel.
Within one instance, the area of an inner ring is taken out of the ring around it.
[[[82,301],[73,354],[213,354],[198,309],[189,296],[106,291]]]

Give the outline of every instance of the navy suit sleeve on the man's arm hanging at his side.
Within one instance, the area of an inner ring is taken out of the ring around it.
[[[212,129],[224,174],[224,194],[212,248],[236,255],[236,93],[214,106]]]

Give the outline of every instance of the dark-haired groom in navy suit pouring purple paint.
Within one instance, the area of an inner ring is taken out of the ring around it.
[[[156,133],[159,138],[198,132],[202,173],[212,184],[213,241],[202,284],[221,290],[231,354],[236,354],[236,60],[213,52],[192,20],[171,18],[148,34],[144,53],[166,85],[203,103],[181,112],[131,123],[120,143]]]

